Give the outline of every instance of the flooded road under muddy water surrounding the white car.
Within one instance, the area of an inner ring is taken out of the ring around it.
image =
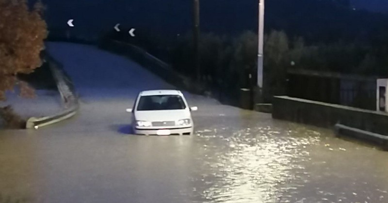
[[[136,94],[171,86],[94,47],[49,47],[81,108],[39,130],[0,131],[0,203],[388,202],[387,152],[210,98],[186,93],[199,108],[193,136],[129,135]],[[82,67],[98,81],[83,81]]]

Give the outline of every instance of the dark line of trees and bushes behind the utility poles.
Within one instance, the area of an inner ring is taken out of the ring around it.
[[[203,81],[232,95],[237,95],[240,88],[256,84],[257,39],[257,34],[252,31],[245,31],[237,37],[202,33],[199,52]],[[195,76],[190,34],[177,36],[175,41],[164,41],[163,44],[146,39],[127,42],[146,47],[152,54],[172,64],[178,72]],[[285,31],[266,33],[264,85],[268,90],[267,98],[273,94],[284,94],[287,69],[291,68],[386,77],[387,48],[388,43],[384,41],[380,41],[379,45],[342,40],[307,44],[303,37],[291,38]]]

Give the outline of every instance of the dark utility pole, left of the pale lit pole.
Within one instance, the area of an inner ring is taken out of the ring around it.
[[[199,0],[193,0],[193,45],[194,45],[194,66],[197,81],[201,79],[199,63]]]

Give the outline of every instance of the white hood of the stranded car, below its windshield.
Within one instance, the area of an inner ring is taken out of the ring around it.
[[[188,109],[179,110],[144,110],[136,111],[135,118],[137,121],[177,121],[179,119],[191,118]]]

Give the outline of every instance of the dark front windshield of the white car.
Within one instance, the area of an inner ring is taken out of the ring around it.
[[[137,110],[176,110],[185,109],[186,105],[179,95],[141,96]]]

